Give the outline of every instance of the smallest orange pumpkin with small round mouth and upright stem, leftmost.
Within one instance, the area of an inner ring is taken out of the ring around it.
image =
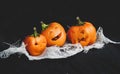
[[[32,56],[41,55],[47,45],[46,38],[42,34],[38,34],[36,28],[34,28],[34,34],[25,37],[24,43],[28,53]]]

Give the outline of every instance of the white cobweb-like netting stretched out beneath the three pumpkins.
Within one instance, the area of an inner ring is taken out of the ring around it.
[[[96,48],[101,49],[105,44],[113,43],[113,44],[120,44],[120,42],[115,42],[103,34],[102,27],[99,27],[97,30],[97,40],[94,44],[82,47],[80,44],[70,44],[65,43],[64,46],[51,46],[47,47],[42,55],[40,56],[31,56],[25,49],[25,45],[22,42],[20,47],[17,46],[10,46],[8,49],[3,50],[0,52],[0,58],[8,58],[10,55],[15,53],[25,54],[29,60],[41,60],[41,59],[60,59],[60,58],[67,58],[73,56],[81,51],[87,53],[90,49]]]

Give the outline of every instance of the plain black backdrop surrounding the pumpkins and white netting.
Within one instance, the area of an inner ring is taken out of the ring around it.
[[[2,42],[14,43],[33,33],[40,21],[67,25],[76,23],[76,16],[103,27],[104,34],[120,41],[120,5],[117,1],[41,0],[40,2],[3,2],[0,4],[0,51],[8,48]],[[29,61],[25,55],[0,59],[1,74],[120,74],[120,45],[108,44],[87,54],[78,53],[66,59]]]

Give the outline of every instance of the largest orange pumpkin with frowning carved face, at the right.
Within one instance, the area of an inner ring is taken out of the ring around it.
[[[82,46],[93,44],[96,41],[96,28],[90,22],[82,22],[77,17],[78,24],[71,26],[67,32],[68,39],[73,43],[80,43]]]

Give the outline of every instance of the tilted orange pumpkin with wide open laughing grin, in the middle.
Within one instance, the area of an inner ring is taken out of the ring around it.
[[[49,25],[42,23],[42,34],[46,37],[47,46],[63,46],[66,41],[66,32],[63,26],[58,22],[52,22]]]

